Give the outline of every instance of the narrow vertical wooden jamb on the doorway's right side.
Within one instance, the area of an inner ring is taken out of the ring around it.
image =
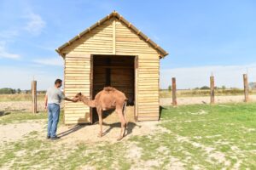
[[[138,101],[137,101],[137,86],[138,86],[138,83],[137,83],[137,78],[138,78],[138,74],[137,74],[137,69],[138,69],[138,56],[135,56],[134,58],[134,78],[135,78],[135,81],[134,81],[134,90],[135,90],[135,107],[134,107],[134,120],[137,122],[138,121],[138,111],[137,111],[137,106],[138,106]]]

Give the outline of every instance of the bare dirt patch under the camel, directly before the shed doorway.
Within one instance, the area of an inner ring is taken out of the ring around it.
[[[135,135],[147,135],[156,132],[163,132],[165,128],[157,126],[159,122],[129,122],[126,128],[125,138],[129,139]],[[75,125],[71,127],[61,126],[58,129],[58,135],[61,144],[75,144],[75,143],[97,143],[97,142],[118,142],[120,132],[120,123],[113,124],[103,123],[103,136],[99,138],[99,125]]]

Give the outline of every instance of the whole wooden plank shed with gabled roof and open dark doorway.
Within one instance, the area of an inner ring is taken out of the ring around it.
[[[159,120],[160,59],[167,55],[116,11],[79,33],[56,51],[65,60],[64,92],[94,99],[112,86],[124,92],[136,121]],[[88,106],[65,101],[65,124],[93,122]]]

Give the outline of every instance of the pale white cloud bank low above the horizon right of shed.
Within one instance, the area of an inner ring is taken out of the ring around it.
[[[199,67],[175,68],[160,70],[160,88],[172,84],[176,77],[177,88],[196,88],[209,86],[211,74],[215,77],[215,85],[242,88],[242,74],[248,71],[248,81],[256,82],[256,64],[252,65],[209,65]]]

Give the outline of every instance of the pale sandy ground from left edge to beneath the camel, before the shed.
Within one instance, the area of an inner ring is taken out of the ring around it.
[[[162,131],[162,127],[157,126],[159,122],[129,122],[125,132],[125,139],[134,135],[145,135]],[[47,124],[43,120],[17,122],[0,125],[0,145],[6,142],[15,142],[22,139],[29,133],[37,132],[38,137],[46,137]],[[57,135],[61,137],[57,142],[60,144],[98,143],[102,141],[117,142],[120,132],[120,123],[107,124],[103,126],[102,138],[97,137],[99,125],[73,125],[58,127]]]

